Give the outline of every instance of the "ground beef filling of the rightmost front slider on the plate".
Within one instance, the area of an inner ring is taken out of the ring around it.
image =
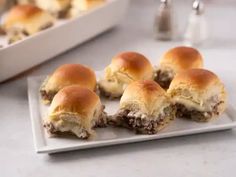
[[[177,113],[176,116],[179,118],[187,118],[198,122],[207,122],[212,117],[218,116],[220,114],[219,112],[219,106],[223,104],[223,101],[220,101],[216,103],[212,107],[212,111],[198,111],[195,109],[188,109],[183,104],[176,104],[177,107]]]

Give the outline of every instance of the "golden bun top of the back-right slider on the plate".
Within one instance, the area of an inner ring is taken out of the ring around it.
[[[171,68],[175,72],[191,68],[202,68],[203,59],[199,51],[194,48],[175,47],[162,56],[160,67]]]

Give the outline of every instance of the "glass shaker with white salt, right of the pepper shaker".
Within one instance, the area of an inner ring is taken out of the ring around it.
[[[202,1],[195,0],[192,8],[184,35],[185,44],[190,46],[200,45],[208,37]]]

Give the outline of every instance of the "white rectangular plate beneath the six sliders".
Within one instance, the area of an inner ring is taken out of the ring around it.
[[[100,75],[97,72],[97,75]],[[40,101],[39,88],[45,76],[28,78],[28,96],[31,114],[31,123],[34,137],[35,150],[38,153],[55,153],[77,149],[94,148],[115,144],[124,144],[155,140],[161,138],[183,136],[204,132],[231,129],[236,127],[236,112],[229,106],[224,114],[218,119],[208,123],[197,123],[184,119],[176,119],[165,129],[155,135],[136,135],[123,128],[98,128],[97,136],[93,140],[79,140],[76,137],[54,137],[49,138],[42,124],[43,118],[47,115],[48,106]],[[119,108],[119,101],[102,99],[108,114],[114,114]]]

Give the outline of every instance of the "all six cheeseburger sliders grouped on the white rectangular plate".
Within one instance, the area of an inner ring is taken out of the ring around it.
[[[63,65],[40,88],[43,102],[50,104],[44,127],[49,134],[87,139],[94,128],[107,125],[155,134],[176,117],[207,122],[225,110],[226,90],[202,66],[201,54],[190,47],[170,49],[157,67],[142,54],[121,53],[98,82],[86,66]],[[115,115],[107,115],[98,95],[121,97]]]

